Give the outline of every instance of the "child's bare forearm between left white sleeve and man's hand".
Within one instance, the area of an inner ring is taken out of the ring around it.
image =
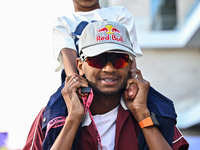
[[[63,64],[66,75],[71,76],[74,73],[78,74],[76,69],[77,52],[73,49],[63,48],[61,53],[63,56]]]

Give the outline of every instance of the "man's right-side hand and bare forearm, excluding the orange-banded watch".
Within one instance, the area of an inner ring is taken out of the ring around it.
[[[147,108],[147,95],[149,92],[150,83],[143,79],[140,70],[132,69],[130,72],[131,76],[127,81],[127,87],[124,92],[124,101],[137,122],[140,122],[150,116],[150,112]],[[132,93],[135,94],[134,98],[128,94],[131,93],[131,88],[133,88]],[[142,128],[142,131],[149,149],[171,150],[171,147],[156,127],[151,126]]]

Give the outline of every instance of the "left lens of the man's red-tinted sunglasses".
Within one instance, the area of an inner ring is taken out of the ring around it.
[[[102,69],[106,63],[106,55],[101,54],[94,57],[87,57],[87,63],[91,67]]]

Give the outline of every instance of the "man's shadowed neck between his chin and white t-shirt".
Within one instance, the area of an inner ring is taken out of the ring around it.
[[[92,115],[105,114],[114,108],[116,108],[121,99],[121,93],[113,96],[105,96],[100,94],[94,94],[90,110]]]

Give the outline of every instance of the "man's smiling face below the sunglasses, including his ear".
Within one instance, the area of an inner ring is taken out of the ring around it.
[[[111,96],[121,92],[125,87],[131,62],[121,69],[114,68],[110,61],[102,69],[91,67],[87,62],[81,60],[80,62],[82,69],[79,69],[79,73],[85,75],[94,92]]]

